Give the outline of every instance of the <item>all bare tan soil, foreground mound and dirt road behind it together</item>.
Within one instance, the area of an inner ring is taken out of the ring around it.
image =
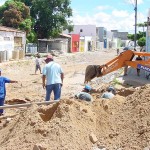
[[[150,85],[117,89],[116,96],[106,100],[101,94],[109,83],[93,82],[99,92],[91,93],[92,102],[74,98],[84,87],[85,67],[104,64],[114,56],[114,51],[103,51],[55,58],[65,72],[61,100],[50,105],[6,109],[0,118],[0,150],[148,148]],[[4,76],[19,81],[7,85],[7,104],[44,101],[41,75],[34,75],[34,59],[4,63],[1,68]]]

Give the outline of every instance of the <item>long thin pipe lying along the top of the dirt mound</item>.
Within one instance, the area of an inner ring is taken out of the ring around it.
[[[56,102],[59,102],[59,101],[60,100],[45,101],[45,102],[24,103],[24,104],[16,104],[16,105],[4,105],[4,106],[0,106],[0,109],[18,108],[18,107],[30,107],[33,104],[37,104],[37,105],[52,104],[52,103],[56,103]]]

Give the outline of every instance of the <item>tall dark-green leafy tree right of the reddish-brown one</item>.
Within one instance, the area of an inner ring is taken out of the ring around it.
[[[32,0],[31,16],[38,38],[56,37],[64,29],[71,28],[70,0]]]

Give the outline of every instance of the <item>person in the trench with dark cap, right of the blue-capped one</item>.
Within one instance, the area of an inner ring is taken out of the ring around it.
[[[107,91],[102,94],[102,98],[112,99],[116,94],[116,90],[113,86],[107,88]]]

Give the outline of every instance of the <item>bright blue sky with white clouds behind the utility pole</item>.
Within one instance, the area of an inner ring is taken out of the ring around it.
[[[0,5],[6,0],[0,0]],[[150,0],[137,0],[137,23],[147,21]],[[74,25],[96,25],[108,31],[134,33],[135,0],[71,0]],[[142,30],[137,28],[137,31]]]

